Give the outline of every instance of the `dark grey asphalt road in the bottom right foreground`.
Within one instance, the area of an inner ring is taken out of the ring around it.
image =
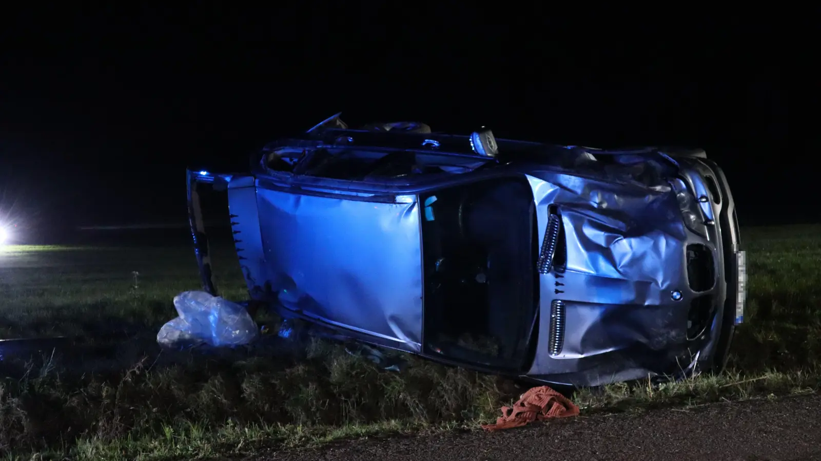
[[[821,460],[821,395],[581,416],[495,433],[356,440],[262,459]]]

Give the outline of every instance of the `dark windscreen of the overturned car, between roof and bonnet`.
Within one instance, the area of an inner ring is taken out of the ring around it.
[[[537,335],[538,245],[525,178],[420,197],[424,347],[452,360],[519,369]]]

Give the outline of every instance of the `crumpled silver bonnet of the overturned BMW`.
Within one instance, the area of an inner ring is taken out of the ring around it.
[[[686,247],[709,242],[684,226],[670,185],[553,172],[528,179],[539,239],[548,208],[561,214],[566,262],[540,276],[539,351],[527,375],[597,385],[689,368],[707,341],[686,337],[690,303],[703,295],[688,286]],[[562,344],[550,354],[555,302],[562,305]]]

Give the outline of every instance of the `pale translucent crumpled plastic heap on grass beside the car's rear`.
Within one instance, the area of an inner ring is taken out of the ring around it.
[[[204,291],[178,294],[174,307],[179,317],[160,328],[160,345],[236,346],[249,344],[258,336],[256,323],[243,306]]]

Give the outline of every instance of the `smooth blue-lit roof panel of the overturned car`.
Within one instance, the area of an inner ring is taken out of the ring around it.
[[[257,189],[268,290],[283,307],[420,350],[418,203]]]

